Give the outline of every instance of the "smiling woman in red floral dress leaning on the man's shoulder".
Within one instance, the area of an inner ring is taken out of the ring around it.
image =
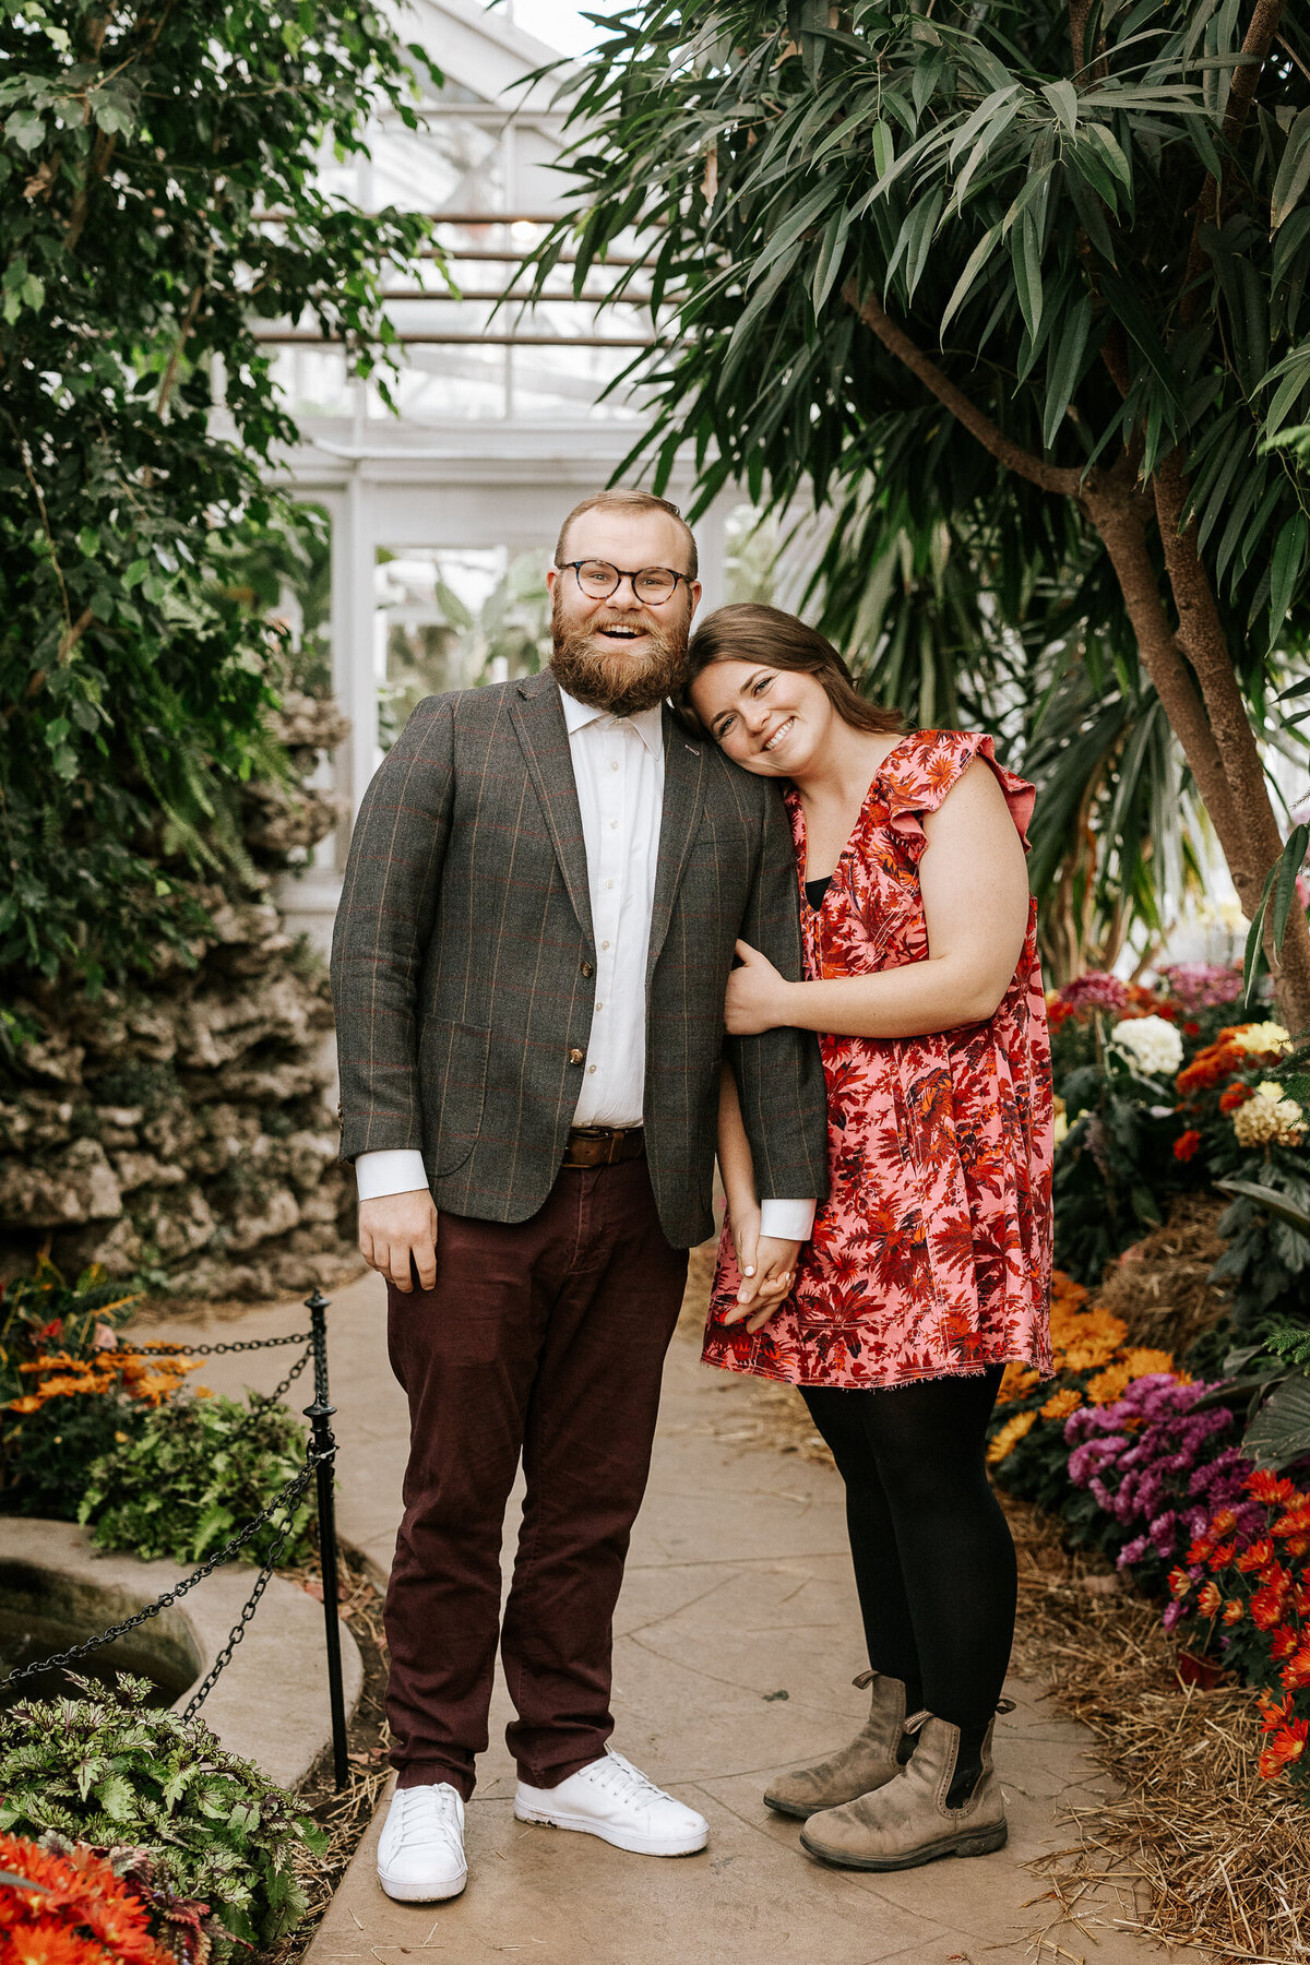
[[[709,615],[687,705],[742,770],[782,782],[795,839],[805,981],[738,943],[727,1028],[819,1032],[829,1093],[831,1193],[780,1301],[725,1073],[705,1360],[797,1385],[833,1448],[868,1639],[856,1684],[872,1684],[856,1739],[764,1798],[833,1863],[982,1855],[1006,1841],[990,1747],[1015,1611],[986,1425],[1006,1362],[1051,1370],[1033,790],[990,737],[898,735],[774,607]],[[738,1260],[764,1283],[748,1307]]]

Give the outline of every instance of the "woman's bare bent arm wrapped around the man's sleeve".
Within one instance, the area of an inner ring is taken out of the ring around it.
[[[921,1038],[996,1012],[1023,949],[1029,894],[1023,843],[992,768],[970,764],[939,810],[923,815],[923,831],[927,961],[788,982],[738,943],[742,967],[729,977],[725,1012],[735,1036],[795,1024],[846,1038]]]

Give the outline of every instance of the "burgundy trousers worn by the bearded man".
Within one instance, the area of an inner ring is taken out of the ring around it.
[[[473,1792],[497,1635],[520,1776],[554,1788],[605,1751],[613,1613],[685,1273],[646,1161],[630,1159],[560,1173],[526,1222],[442,1214],[436,1287],[387,1291],[410,1413],[385,1609],[403,1788]],[[526,1503],[501,1623],[520,1456]]]

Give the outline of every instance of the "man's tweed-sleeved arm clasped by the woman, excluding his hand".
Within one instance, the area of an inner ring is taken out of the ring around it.
[[[768,959],[790,981],[801,975],[801,924],[795,890],[795,853],[782,798],[772,784],[760,784],[762,839],[756,872],[742,914],[742,941],[752,941],[750,922]],[[827,1195],[827,1095],[819,1041],[803,1030],[766,1030],[752,1038],[729,1038],[727,1055],[737,1079],[740,1118],[750,1142],[756,1191],[766,1210],[766,1232],[784,1234],[768,1214],[805,1195]],[[797,1222],[788,1222],[791,1238]],[[805,1226],[805,1232],[807,1226]]]

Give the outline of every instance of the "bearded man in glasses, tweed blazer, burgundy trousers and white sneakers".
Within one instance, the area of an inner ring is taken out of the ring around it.
[[[410,1407],[387,1592],[389,1896],[465,1882],[487,1745],[501,1531],[522,1533],[501,1655],[515,1814],[621,1849],[701,1849],[699,1814],[607,1747],[611,1619],[650,1466],[687,1248],[713,1228],[723,990],[744,937],[799,965],[778,794],[664,700],[699,599],[664,499],[564,523],[546,674],[430,698],[359,812],[332,951],[342,1155],[389,1281]],[[817,1043],[733,1039],[764,1203],[760,1305],[825,1191]]]

